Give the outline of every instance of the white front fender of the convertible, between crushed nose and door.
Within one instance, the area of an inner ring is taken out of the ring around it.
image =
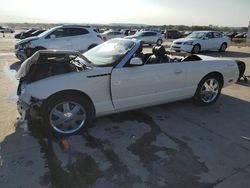
[[[110,73],[106,68],[99,71],[73,72],[51,76],[26,85],[25,92],[20,96],[26,103],[31,97],[46,100],[51,95],[65,91],[75,90],[82,92],[92,100],[96,113],[112,109],[110,95]],[[111,68],[109,68],[111,71]],[[105,72],[105,74],[104,74]]]

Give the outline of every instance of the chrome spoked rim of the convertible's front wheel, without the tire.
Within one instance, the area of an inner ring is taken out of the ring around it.
[[[49,116],[50,125],[59,133],[71,134],[85,123],[86,111],[82,105],[65,101],[52,108]]]

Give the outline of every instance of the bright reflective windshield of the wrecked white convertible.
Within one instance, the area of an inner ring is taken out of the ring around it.
[[[111,39],[83,53],[94,66],[112,66],[118,63],[135,45],[127,39]]]

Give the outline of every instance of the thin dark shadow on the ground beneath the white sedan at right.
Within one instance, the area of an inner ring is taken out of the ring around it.
[[[213,56],[213,57],[230,57],[230,58],[249,58],[250,57],[250,53],[234,52],[234,51],[226,51],[226,52],[203,51],[200,54]]]

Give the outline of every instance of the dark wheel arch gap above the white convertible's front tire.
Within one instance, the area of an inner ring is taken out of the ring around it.
[[[92,101],[92,99],[84,92],[79,91],[79,90],[74,90],[74,89],[67,89],[67,90],[62,90],[62,91],[58,91],[56,93],[53,93],[52,95],[48,96],[46,101],[52,99],[52,98],[56,98],[58,96],[65,96],[65,95],[77,95],[79,97],[84,97],[86,98],[89,103],[91,104],[93,111],[94,111],[94,115],[96,114],[96,109],[95,109],[95,105]]]

